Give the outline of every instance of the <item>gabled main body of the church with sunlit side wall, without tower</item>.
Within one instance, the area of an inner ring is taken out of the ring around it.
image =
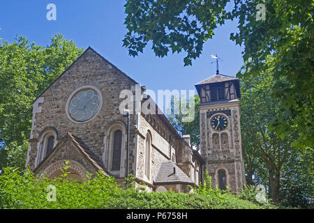
[[[127,146],[128,118],[119,109],[125,99],[119,96],[123,90],[133,91],[135,84],[94,49],[87,49],[33,102],[27,164],[36,174],[53,178],[61,176],[60,169],[69,160],[75,179],[99,170],[124,178],[128,170],[137,180],[153,185],[160,164],[172,160],[177,168],[185,165],[182,173],[194,182],[192,148],[160,112],[130,115]],[[178,150],[187,151],[184,159],[176,157]]]

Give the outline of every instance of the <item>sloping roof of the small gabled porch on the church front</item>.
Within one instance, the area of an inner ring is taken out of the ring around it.
[[[94,153],[84,144],[82,139],[79,137],[75,137],[73,134],[70,134],[68,132],[61,141],[58,142],[58,144],[54,147],[52,153],[50,155],[47,155],[39,164],[38,166],[33,169],[33,173],[36,173],[40,169],[40,167],[50,159],[57,151],[63,147],[63,144],[66,143],[66,141],[70,140],[70,142],[77,148],[77,151],[97,170],[101,171],[105,176],[110,176],[111,174],[108,174],[108,171],[105,170],[103,167],[102,162],[94,155]]]

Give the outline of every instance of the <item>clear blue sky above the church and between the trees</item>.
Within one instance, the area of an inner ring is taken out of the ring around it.
[[[243,65],[243,47],[230,40],[230,33],[237,31],[236,22],[227,22],[215,30],[213,39],[204,45],[200,58],[193,66],[184,67],[186,54],[169,54],[160,59],[154,56],[151,46],[133,58],[122,47],[126,33],[124,3],[122,0],[10,0],[0,7],[0,38],[12,43],[15,35],[22,35],[36,43],[48,45],[50,36],[62,33],[78,47],[93,47],[120,70],[138,83],[154,91],[170,89],[190,90],[194,84],[216,73],[211,64],[211,54],[218,54],[220,73],[235,75]],[[57,6],[57,21],[48,21],[48,3]],[[196,93],[196,91],[195,91]]]

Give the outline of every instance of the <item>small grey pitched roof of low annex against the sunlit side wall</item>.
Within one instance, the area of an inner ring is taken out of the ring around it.
[[[174,173],[175,169],[175,173]],[[160,184],[190,184],[195,183],[171,160],[164,161],[160,164],[159,171],[154,181],[155,185]]]

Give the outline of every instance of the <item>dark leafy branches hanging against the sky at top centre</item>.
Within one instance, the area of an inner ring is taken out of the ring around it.
[[[204,42],[213,36],[217,24],[223,24],[227,1],[128,0],[124,46],[132,56],[143,52],[149,41],[156,56],[182,50],[188,55],[185,66],[200,56]]]

